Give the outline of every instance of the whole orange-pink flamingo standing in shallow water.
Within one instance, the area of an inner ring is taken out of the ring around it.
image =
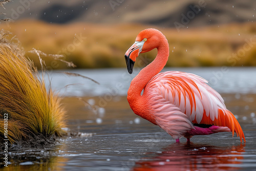
[[[133,112],[158,125],[176,142],[181,137],[234,132],[245,142],[244,133],[234,115],[226,109],[221,95],[205,79],[191,73],[159,73],[169,56],[166,37],[157,29],[142,30],[125,52],[127,70],[133,72],[139,53],[157,48],[156,58],[132,80],[127,101]],[[141,95],[143,90],[143,94]]]

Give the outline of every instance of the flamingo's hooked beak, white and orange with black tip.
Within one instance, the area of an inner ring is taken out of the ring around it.
[[[139,56],[139,53],[142,50],[142,46],[140,41],[135,41],[135,43],[125,52],[124,58],[127,66],[127,70],[129,74],[133,73],[133,67],[136,58]]]

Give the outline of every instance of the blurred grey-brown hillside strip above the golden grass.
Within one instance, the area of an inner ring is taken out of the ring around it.
[[[5,7],[1,12],[6,13],[6,18],[33,18],[59,24],[139,23],[166,28],[180,23],[190,28],[254,22],[256,17],[254,0],[24,0],[12,1]]]

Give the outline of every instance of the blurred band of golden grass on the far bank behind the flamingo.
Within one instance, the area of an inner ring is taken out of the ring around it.
[[[35,48],[48,54],[62,54],[65,56],[63,59],[73,61],[77,68],[125,67],[125,51],[133,44],[139,31],[152,27],[87,23],[55,25],[36,20],[20,20],[10,23],[8,27],[6,24],[1,26],[18,38],[26,51]],[[168,67],[256,66],[254,23],[184,29],[180,32],[176,29],[157,29],[166,35],[169,42]],[[77,41],[75,35],[83,38]],[[235,61],[233,58],[228,60],[230,55],[243,49],[245,39],[250,38],[254,44],[245,55]],[[37,67],[40,66],[36,55],[26,55]],[[151,60],[155,56],[156,51],[146,53]],[[51,58],[45,60],[50,69],[67,69],[65,63]]]

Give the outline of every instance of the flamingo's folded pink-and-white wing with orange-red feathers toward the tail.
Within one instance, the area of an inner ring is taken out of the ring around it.
[[[176,114],[182,116],[181,118],[186,120],[185,130],[194,128],[188,121],[194,124],[227,126],[232,131],[232,135],[236,132],[240,136],[242,142],[242,138],[244,140],[245,138],[240,124],[226,109],[221,95],[209,87],[207,82],[195,74],[178,71],[163,72],[154,76],[146,84],[144,93],[154,98],[153,107],[160,108],[160,105],[161,111],[168,109],[167,111],[176,111]],[[155,115],[158,122],[162,123],[163,112],[156,112]],[[160,121],[159,118],[161,118]],[[169,119],[171,118],[167,120]]]

